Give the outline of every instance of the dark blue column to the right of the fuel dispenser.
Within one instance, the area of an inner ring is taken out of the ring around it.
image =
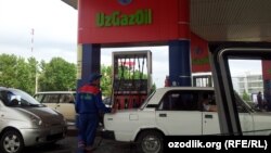
[[[169,42],[169,79],[171,86],[191,86],[190,40]]]

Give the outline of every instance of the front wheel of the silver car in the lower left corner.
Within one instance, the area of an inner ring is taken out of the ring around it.
[[[14,129],[3,132],[0,139],[1,153],[21,153],[24,149],[24,140],[21,133]]]

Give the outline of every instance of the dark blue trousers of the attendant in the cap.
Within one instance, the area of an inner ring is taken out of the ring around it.
[[[99,115],[80,114],[77,119],[78,142],[82,142],[86,146],[93,145],[99,125]]]

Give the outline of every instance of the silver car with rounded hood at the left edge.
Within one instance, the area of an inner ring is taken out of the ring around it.
[[[62,114],[22,90],[0,87],[1,153],[20,153],[24,146],[54,143],[65,138],[66,131]]]

